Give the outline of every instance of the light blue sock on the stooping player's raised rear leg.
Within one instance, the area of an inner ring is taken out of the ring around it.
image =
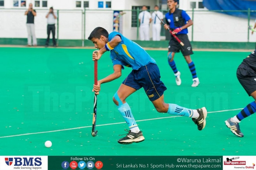
[[[192,109],[188,109],[185,107],[178,106],[177,104],[170,104],[170,103],[169,103],[169,108],[167,113],[172,115],[185,116],[185,117],[193,116]]]

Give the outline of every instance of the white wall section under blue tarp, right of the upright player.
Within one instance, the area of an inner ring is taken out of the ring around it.
[[[197,12],[193,22],[193,41],[247,42],[247,19],[217,12]],[[254,21],[251,24],[254,25]],[[255,36],[250,34],[250,39],[254,42]]]

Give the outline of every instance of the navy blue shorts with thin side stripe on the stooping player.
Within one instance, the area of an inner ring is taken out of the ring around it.
[[[150,101],[159,99],[167,89],[160,81],[160,71],[156,64],[149,63],[139,70],[132,70],[122,84],[130,86],[136,90],[144,88]]]

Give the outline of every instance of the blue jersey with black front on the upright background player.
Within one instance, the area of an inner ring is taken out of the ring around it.
[[[166,13],[166,24],[170,25],[171,30],[175,30],[176,28],[184,26],[189,20],[190,17],[189,15],[183,11],[176,9],[173,13],[170,11]],[[183,29],[181,32],[177,33],[178,34],[187,34],[188,29]]]

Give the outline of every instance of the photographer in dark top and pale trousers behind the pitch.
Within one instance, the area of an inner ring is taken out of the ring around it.
[[[28,31],[28,46],[30,47],[32,45],[31,37],[33,39],[33,45],[36,46],[37,41],[36,41],[35,24],[34,24],[36,10],[33,10],[32,3],[29,4],[29,8],[27,11],[25,11],[25,15],[27,16],[26,27],[27,27],[27,31]]]

